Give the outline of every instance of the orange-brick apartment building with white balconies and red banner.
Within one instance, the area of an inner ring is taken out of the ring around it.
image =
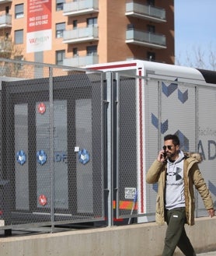
[[[0,0],[0,57],[174,64],[174,0]]]

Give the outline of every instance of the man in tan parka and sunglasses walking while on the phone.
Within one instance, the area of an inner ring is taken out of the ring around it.
[[[214,216],[210,191],[200,174],[199,153],[183,153],[179,150],[179,138],[166,135],[163,150],[146,175],[150,184],[159,182],[156,200],[156,222],[167,223],[162,256],[172,256],[176,246],[186,256],[195,256],[195,251],[186,235],[184,224],[194,225],[195,198],[193,185],[199,191],[209,216]]]

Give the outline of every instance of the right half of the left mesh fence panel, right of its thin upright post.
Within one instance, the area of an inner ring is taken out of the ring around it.
[[[102,219],[103,93],[100,76],[76,74],[64,77],[64,86],[58,82],[54,86],[55,220]]]

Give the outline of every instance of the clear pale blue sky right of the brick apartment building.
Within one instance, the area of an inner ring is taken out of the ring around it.
[[[200,49],[208,66],[210,52],[216,58],[216,0],[174,0],[174,7],[176,64],[197,62]]]

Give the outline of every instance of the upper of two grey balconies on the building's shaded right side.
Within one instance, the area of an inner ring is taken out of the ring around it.
[[[165,9],[151,5],[142,5],[133,1],[126,3],[125,15],[140,19],[148,19],[156,23],[164,23],[166,21]]]

